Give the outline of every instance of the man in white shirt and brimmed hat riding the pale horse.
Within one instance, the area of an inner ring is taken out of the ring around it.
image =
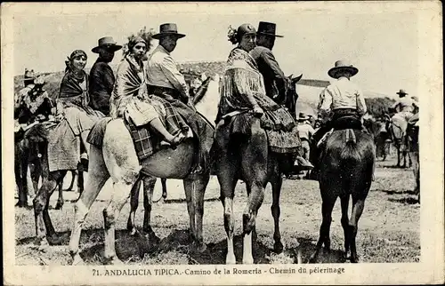
[[[149,92],[169,101],[190,125],[198,139],[198,157],[195,158],[192,170],[192,173],[198,174],[206,171],[206,162],[213,144],[214,132],[189,102],[189,88],[185,78],[179,72],[176,62],[170,55],[174,51],[178,39],[184,36],[178,33],[174,23],[160,25],[159,33],[152,36],[159,40],[159,44],[151,53],[147,65],[147,82]]]

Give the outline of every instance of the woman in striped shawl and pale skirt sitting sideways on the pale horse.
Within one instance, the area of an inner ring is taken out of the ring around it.
[[[188,136],[189,126],[166,100],[149,95],[144,57],[147,41],[133,36],[124,59],[117,68],[116,83],[110,102],[110,115],[129,117],[134,125],[150,125],[171,145],[178,145]]]

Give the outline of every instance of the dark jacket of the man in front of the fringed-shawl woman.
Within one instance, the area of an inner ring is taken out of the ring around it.
[[[286,76],[284,75],[271,50],[263,46],[256,46],[250,55],[256,61],[260,73],[263,75],[266,95],[279,104],[285,102]]]

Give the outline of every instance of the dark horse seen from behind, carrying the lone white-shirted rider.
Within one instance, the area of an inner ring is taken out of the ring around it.
[[[355,240],[359,219],[373,179],[376,146],[371,134],[353,125],[360,123],[349,126],[345,122],[334,123],[334,131],[328,136],[326,145],[321,151],[319,182],[323,219],[320,238],[310,259],[312,262],[317,260],[323,244],[326,250],[330,250],[329,230],[337,197],[340,197],[342,204],[341,222],[344,228],[345,257],[351,250],[351,262],[358,262]],[[350,197],[352,197],[351,219],[348,218]]]

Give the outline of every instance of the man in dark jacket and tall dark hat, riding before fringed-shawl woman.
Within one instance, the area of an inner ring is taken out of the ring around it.
[[[264,88],[266,95],[278,104],[287,107],[287,110],[295,119],[295,101],[296,99],[286,98],[286,75],[284,75],[279,64],[272,53],[276,37],[283,37],[275,34],[276,24],[261,21],[256,32],[256,46],[249,53],[254,58],[260,73],[263,75]],[[296,158],[297,162],[303,167],[313,168],[301,155]]]

